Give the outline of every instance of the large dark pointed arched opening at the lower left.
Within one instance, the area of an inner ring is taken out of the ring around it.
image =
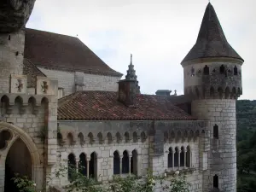
[[[19,192],[14,181],[15,174],[32,179],[32,157],[26,144],[19,138],[9,148],[5,160],[4,191]]]

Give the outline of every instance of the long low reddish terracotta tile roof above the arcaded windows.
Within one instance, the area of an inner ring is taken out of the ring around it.
[[[172,105],[168,96],[137,95],[137,108],[127,108],[111,91],[79,91],[58,102],[59,120],[195,119]]]

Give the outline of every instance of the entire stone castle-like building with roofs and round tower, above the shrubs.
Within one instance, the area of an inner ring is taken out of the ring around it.
[[[182,96],[141,94],[132,60],[121,79],[78,38],[25,28],[33,3],[0,5],[0,192],[15,191],[15,173],[41,189],[60,164],[102,183],[179,170],[190,191],[236,191],[243,60],[211,3],[181,63]]]

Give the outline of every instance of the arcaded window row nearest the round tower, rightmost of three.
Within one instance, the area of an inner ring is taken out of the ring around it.
[[[174,151],[172,148],[169,148],[168,167],[191,167],[191,151],[189,146],[187,148],[182,147],[181,150],[176,147]]]

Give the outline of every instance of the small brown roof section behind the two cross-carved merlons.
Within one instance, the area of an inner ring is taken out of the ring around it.
[[[41,72],[38,67],[32,64],[28,59],[23,60],[23,74],[27,76],[27,87],[36,86],[37,76],[45,77],[45,74]]]

